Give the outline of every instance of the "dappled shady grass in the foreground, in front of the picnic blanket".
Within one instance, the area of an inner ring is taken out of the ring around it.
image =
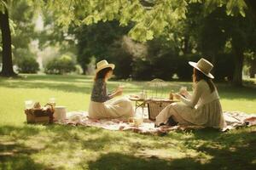
[[[256,159],[253,154],[256,150],[252,145],[256,142],[255,133],[255,127],[249,127],[230,133],[206,129],[171,132],[166,137],[159,137],[94,127],[2,126],[0,156],[4,156],[5,164],[13,167],[13,160],[23,161],[24,156],[27,156],[33,162],[31,167],[69,169],[89,166],[112,169],[121,166],[131,169],[136,166],[154,169],[157,166],[192,166],[192,169],[196,169],[214,165],[231,167],[229,161],[222,159],[232,161],[233,158],[228,157],[233,154],[240,158],[238,162],[247,162],[250,168]],[[250,150],[254,151],[251,153]],[[247,153],[250,158],[240,156],[240,153]],[[12,156],[6,156],[8,154]],[[20,166],[26,167],[22,163]],[[242,164],[238,167],[242,167]]]

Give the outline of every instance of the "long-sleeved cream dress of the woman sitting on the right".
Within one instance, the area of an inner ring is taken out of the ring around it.
[[[179,125],[200,125],[204,127],[225,127],[223,111],[219,102],[218,91],[212,93],[206,81],[195,84],[194,93],[182,102],[172,103],[156,116],[156,125],[166,123],[172,116]]]

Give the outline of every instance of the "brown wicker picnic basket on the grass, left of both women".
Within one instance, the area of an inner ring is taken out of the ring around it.
[[[44,108],[39,109],[26,109],[26,122],[27,123],[52,123],[54,119],[54,107],[47,104]]]

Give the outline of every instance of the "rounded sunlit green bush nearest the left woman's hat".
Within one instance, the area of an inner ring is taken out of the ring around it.
[[[62,55],[61,58],[50,60],[44,68],[46,74],[66,74],[76,71],[73,59],[68,55]]]

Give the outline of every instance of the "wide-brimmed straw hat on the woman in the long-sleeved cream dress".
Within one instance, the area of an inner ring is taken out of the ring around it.
[[[209,78],[214,78],[210,71],[212,71],[213,65],[207,59],[199,59],[197,63],[189,61],[189,65],[193,66],[198,71],[201,71],[204,75]]]

